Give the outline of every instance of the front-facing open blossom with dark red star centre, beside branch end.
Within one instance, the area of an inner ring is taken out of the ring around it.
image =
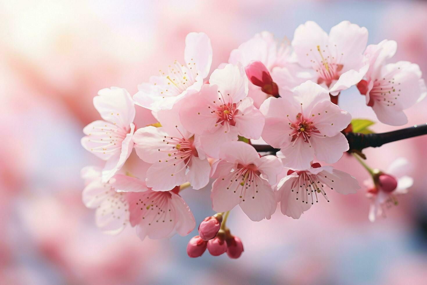
[[[268,98],[260,107],[266,117],[262,138],[280,148],[278,157],[284,166],[307,169],[316,155],[327,163],[337,162],[348,150],[340,132],[351,121],[351,115],[330,102],[328,91],[307,81],[295,88],[290,102]]]

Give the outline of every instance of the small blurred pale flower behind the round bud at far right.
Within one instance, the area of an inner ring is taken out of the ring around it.
[[[398,195],[407,194],[412,187],[414,180],[408,176],[411,172],[411,167],[407,159],[398,158],[387,167],[386,174],[394,177],[397,180],[397,187],[393,191],[383,191],[381,185],[374,185],[372,179],[364,181],[364,185],[368,188],[366,196],[371,200],[368,218],[374,222],[376,217],[386,217],[386,209],[392,205],[398,204]]]

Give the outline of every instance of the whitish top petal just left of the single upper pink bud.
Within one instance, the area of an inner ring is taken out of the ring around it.
[[[248,77],[240,62],[214,70],[209,78],[209,84],[217,85],[224,99],[227,100],[226,98],[230,96],[233,103],[243,100],[248,95]]]

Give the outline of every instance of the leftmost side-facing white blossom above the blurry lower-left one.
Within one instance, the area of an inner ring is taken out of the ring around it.
[[[83,129],[82,146],[100,159],[106,160],[102,181],[108,180],[129,158],[135,130],[135,106],[123,88],[104,88],[94,97],[95,109],[103,120],[96,120]]]

